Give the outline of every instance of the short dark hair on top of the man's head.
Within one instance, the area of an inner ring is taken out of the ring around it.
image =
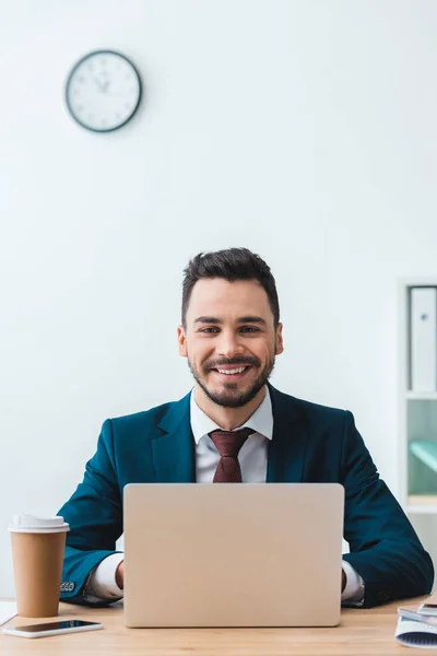
[[[248,248],[227,248],[214,253],[199,253],[184,269],[182,282],[182,326],[186,328],[187,308],[192,288],[202,278],[224,278],[236,280],[257,280],[265,290],[273,313],[274,327],[280,323],[280,304],[276,283],[270,267]]]

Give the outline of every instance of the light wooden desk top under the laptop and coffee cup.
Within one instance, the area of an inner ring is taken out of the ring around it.
[[[8,656],[389,656],[405,654],[394,641],[398,606],[412,606],[425,597],[390,604],[371,610],[343,609],[341,624],[333,629],[127,629],[121,602],[90,609],[61,604],[66,619],[98,621],[105,629],[27,640],[0,634],[0,654]],[[55,618],[56,619],[56,618]],[[47,619],[42,621],[49,621]],[[37,620],[11,620],[33,624]],[[418,653],[420,649],[416,649]],[[409,654],[412,653],[411,649]]]

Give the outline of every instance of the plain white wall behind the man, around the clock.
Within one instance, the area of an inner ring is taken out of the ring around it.
[[[190,386],[181,270],[245,245],[276,277],[273,384],[351,409],[399,488],[397,278],[436,274],[433,0],[0,0],[0,595],[14,512],[73,492],[107,417]],[[75,60],[138,65],[93,134]]]

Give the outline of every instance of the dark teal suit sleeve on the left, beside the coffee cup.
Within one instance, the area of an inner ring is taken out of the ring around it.
[[[70,524],[63,560],[61,600],[90,605],[84,587],[90,573],[115,553],[122,532],[122,500],[114,460],[110,420],[105,421],[97,450],[86,464],[82,483],[58,513]],[[105,606],[109,601],[93,604]]]

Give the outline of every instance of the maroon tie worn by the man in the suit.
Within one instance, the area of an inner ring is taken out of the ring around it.
[[[212,431],[211,440],[220,453],[213,483],[241,483],[241,468],[238,462],[239,449],[246,440],[255,433],[252,429],[240,431]]]

